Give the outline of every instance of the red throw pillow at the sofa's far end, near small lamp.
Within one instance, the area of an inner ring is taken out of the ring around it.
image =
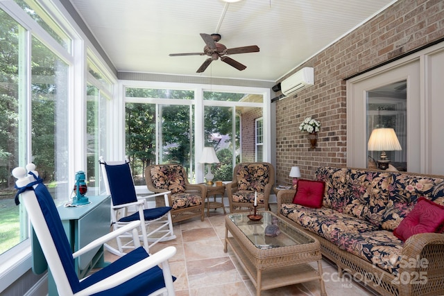
[[[300,204],[305,207],[320,208],[324,197],[325,182],[298,180],[296,194],[293,198],[293,204]]]

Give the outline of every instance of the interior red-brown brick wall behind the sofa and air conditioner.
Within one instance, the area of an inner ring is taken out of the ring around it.
[[[314,86],[275,103],[277,184],[291,183],[291,166],[312,179],[318,166],[346,165],[344,78],[443,37],[444,1],[399,0],[295,69],[314,67]],[[299,130],[307,116],[321,121],[314,150]]]

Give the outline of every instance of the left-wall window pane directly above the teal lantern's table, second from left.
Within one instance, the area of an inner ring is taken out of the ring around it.
[[[30,159],[57,204],[68,189],[68,66],[44,44],[32,40]]]

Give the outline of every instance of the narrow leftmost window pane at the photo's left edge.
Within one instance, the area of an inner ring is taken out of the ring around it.
[[[28,238],[25,225],[20,231],[20,208],[14,203],[14,178],[11,170],[23,159],[19,143],[26,122],[25,96],[19,81],[26,78],[23,56],[24,28],[0,9],[0,254]],[[19,121],[20,126],[19,126]]]

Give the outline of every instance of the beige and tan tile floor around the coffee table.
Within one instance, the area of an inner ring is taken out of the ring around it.
[[[273,205],[271,209],[273,211]],[[210,218],[205,216],[203,222],[200,218],[194,218],[174,223],[173,228],[177,238],[150,248],[151,253],[167,245],[174,245],[177,248],[176,255],[170,260],[171,272],[178,278],[174,282],[177,296],[256,295],[255,287],[230,251],[230,247],[227,253],[223,252],[225,238],[223,218],[223,211],[219,208],[212,209]],[[105,252],[105,260],[113,261],[115,258],[113,254]],[[316,267],[316,263],[313,266]],[[352,281],[350,277],[339,278],[336,265],[330,261],[323,260],[323,273],[328,296],[377,295]],[[262,291],[262,295],[318,296],[320,288],[318,281],[311,281],[265,290]]]

